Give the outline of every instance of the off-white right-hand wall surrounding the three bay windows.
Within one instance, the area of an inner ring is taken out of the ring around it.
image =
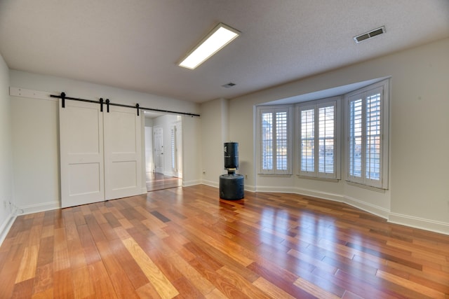
[[[448,53],[449,39],[444,39],[232,99],[229,137],[241,141],[240,170],[248,173],[246,188],[340,200],[392,222],[449,234]],[[385,193],[344,181],[256,174],[255,105],[387,76],[391,76],[391,141],[390,188]]]

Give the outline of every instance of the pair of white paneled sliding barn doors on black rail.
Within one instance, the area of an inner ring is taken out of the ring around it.
[[[135,109],[68,100],[60,107],[61,207],[142,193],[141,123]]]

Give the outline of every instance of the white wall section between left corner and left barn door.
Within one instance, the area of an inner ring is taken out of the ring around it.
[[[60,207],[58,101],[11,97],[16,204],[24,212]]]

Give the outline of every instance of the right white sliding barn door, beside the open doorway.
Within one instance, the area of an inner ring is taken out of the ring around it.
[[[106,200],[142,193],[140,116],[135,109],[109,106],[105,122]]]

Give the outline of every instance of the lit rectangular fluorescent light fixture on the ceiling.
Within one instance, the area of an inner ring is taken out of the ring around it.
[[[218,24],[178,65],[187,69],[195,69],[239,34],[240,32],[234,28],[223,23]]]

